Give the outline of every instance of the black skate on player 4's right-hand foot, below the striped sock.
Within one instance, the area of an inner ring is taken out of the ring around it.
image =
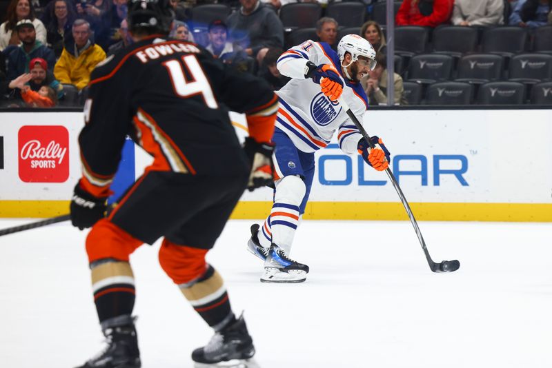
[[[233,325],[217,331],[206,346],[195,349],[192,359],[196,363],[201,363],[195,367],[210,367],[219,362],[248,360],[254,354],[253,340],[249,336],[242,314]]]

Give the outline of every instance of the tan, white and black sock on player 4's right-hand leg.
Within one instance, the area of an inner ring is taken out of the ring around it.
[[[235,322],[224,280],[213,266],[208,265],[203,276],[178,287],[199,316],[215,331]]]

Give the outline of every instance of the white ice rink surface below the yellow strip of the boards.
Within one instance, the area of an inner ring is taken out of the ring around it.
[[[30,220],[0,220],[0,228]],[[552,224],[305,221],[306,283],[259,283],[251,221],[230,221],[210,263],[245,310],[262,368],[552,367]],[[68,223],[0,237],[0,367],[81,365],[102,347],[84,251]],[[193,367],[212,331],[143,246],[131,263],[143,367]]]

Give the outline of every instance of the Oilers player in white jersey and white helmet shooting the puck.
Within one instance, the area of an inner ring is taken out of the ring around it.
[[[308,40],[284,52],[277,68],[292,79],[276,92],[274,203],[264,224],[251,226],[248,250],[264,260],[262,282],[300,283],[308,266],[288,255],[311,192],[314,152],[326,147],[336,130],[341,150],[362,154],[375,170],[388,167],[389,152],[377,136],[371,137],[376,144],[371,150],[337,102],[342,96],[362,121],[368,102],[359,81],[375,68],[375,50],[366,39],[346,35],[337,54],[327,43]]]

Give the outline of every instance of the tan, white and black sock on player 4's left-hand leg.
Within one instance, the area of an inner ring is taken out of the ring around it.
[[[128,262],[104,258],[90,264],[92,290],[100,323],[110,318],[132,314],[135,283]]]

